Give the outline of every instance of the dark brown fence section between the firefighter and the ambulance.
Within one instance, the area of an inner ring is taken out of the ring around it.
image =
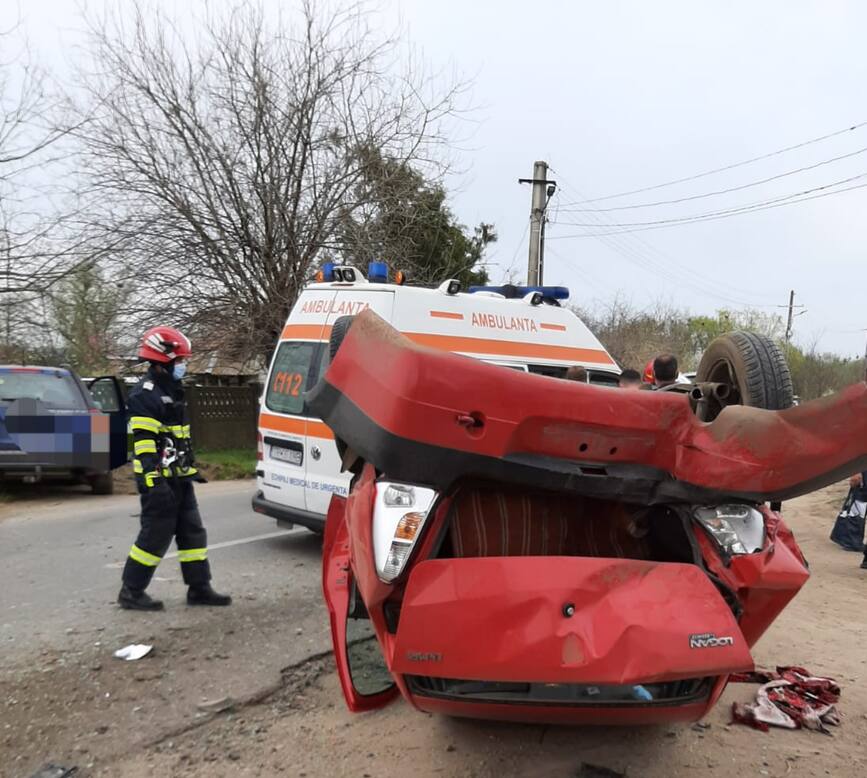
[[[255,448],[259,386],[190,386],[186,390],[196,449]]]

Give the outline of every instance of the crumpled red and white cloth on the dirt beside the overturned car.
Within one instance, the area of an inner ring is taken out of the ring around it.
[[[839,726],[836,704],[840,687],[832,678],[812,675],[803,667],[778,667],[777,671],[757,670],[738,673],[732,681],[760,683],[756,701],[733,703],[732,719],[754,729],[767,732],[770,727],[784,729],[814,729],[826,735],[825,726]]]

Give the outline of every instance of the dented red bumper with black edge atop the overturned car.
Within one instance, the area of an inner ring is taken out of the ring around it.
[[[390,478],[493,478],[627,501],[781,500],[867,468],[867,385],[699,421],[686,397],[531,375],[356,317],[310,405]]]

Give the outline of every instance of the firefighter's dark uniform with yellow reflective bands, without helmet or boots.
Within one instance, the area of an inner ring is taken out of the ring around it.
[[[130,392],[128,408],[141,530],[123,569],[124,586],[143,591],[172,538],[177,541],[184,582],[207,586],[208,539],[193,491],[198,471],[180,382],[152,367]]]

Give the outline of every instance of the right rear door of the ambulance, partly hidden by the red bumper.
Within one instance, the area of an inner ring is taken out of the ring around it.
[[[337,290],[325,324],[324,340],[328,340],[331,327],[341,316],[354,316],[368,308],[391,322],[394,307],[394,292],[389,289],[359,289],[346,287]],[[319,374],[328,369],[328,349],[322,354]],[[334,435],[321,421],[307,422],[307,510],[311,513],[328,513],[332,494],[346,497],[349,493],[349,475],[340,472],[340,457],[334,444]]]

